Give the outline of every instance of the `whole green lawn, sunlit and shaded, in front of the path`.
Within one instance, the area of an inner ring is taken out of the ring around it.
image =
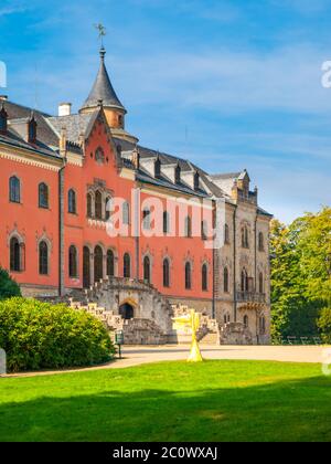
[[[0,441],[331,441],[331,378],[206,361],[0,379]]]

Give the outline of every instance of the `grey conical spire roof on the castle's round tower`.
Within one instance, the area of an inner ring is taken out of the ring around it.
[[[92,87],[92,91],[85,101],[82,109],[84,108],[94,108],[99,106],[100,101],[105,107],[115,107],[122,110],[126,110],[122,104],[120,103],[114,87],[111,85],[106,65],[105,65],[105,54],[106,50],[104,46],[100,49],[100,67],[95,80],[95,83]]]

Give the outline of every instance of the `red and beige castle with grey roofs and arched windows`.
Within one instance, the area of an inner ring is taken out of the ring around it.
[[[140,146],[99,53],[78,114],[0,97],[1,267],[25,296],[94,296],[163,339],[169,308],[185,304],[267,344],[271,215],[248,172],[210,175]]]

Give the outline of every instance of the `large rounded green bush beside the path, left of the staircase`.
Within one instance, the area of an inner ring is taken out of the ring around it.
[[[0,347],[11,372],[109,361],[114,345],[94,316],[35,299],[0,302]]]

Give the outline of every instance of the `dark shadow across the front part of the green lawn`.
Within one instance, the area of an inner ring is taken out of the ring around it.
[[[313,377],[200,391],[77,391],[4,403],[0,416],[0,441],[331,441],[331,389]]]

